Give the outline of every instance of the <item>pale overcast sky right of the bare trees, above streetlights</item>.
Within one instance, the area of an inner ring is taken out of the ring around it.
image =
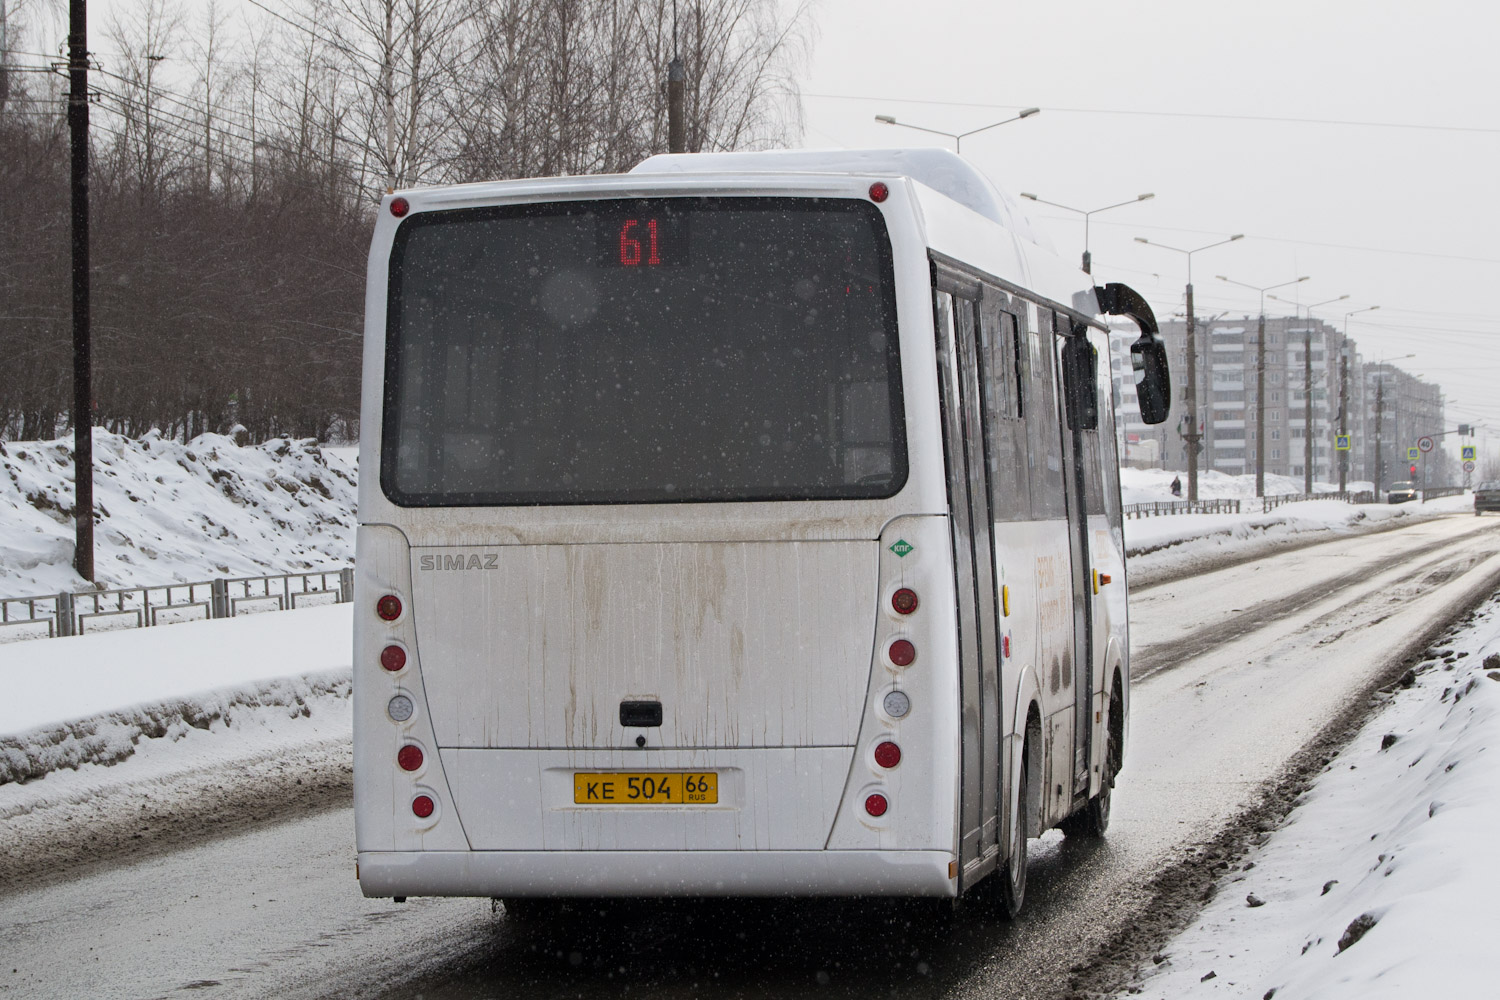
[[[918,13],[920,12],[920,13]],[[1011,192],[1096,208],[1101,280],[1182,310],[1191,249],[1200,316],[1254,313],[1272,285],[1348,321],[1370,361],[1440,384],[1448,424],[1490,421],[1500,453],[1500,7],[1368,0],[820,0],[802,82],[808,147],[942,145],[946,132],[1040,106],[964,139]],[[1024,202],[1059,253],[1082,217]],[[1290,306],[1268,301],[1268,313]],[[1454,441],[1456,444],[1456,438]]]

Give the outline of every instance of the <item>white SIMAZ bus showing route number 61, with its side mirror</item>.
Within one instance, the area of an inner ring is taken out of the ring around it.
[[[957,897],[1101,834],[1130,703],[1106,325],[936,150],[387,196],[366,895]]]

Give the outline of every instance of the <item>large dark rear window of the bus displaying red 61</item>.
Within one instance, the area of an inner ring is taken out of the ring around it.
[[[890,496],[885,223],[807,198],[416,214],[384,403],[381,486],[406,507]]]

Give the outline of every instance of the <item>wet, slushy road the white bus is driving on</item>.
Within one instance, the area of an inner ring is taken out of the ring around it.
[[[1018,927],[734,901],[518,930],[488,901],[363,900],[352,819],[333,808],[8,895],[0,996],[1065,996],[1142,918],[1152,876],[1497,583],[1500,522],[1452,516],[1137,592],[1114,826],[1100,846],[1040,846]]]

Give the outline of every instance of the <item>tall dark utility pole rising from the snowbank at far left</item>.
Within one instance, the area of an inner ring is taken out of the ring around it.
[[[74,232],[74,570],[93,582],[93,351],[88,336],[88,12],[68,4]]]

